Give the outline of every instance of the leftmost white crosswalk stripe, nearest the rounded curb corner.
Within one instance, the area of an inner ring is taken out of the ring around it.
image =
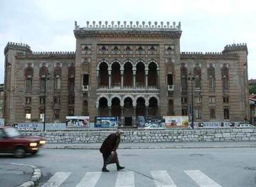
[[[41,187],[58,187],[69,177],[70,172],[57,172]]]

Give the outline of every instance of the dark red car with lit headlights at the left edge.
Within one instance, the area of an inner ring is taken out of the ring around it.
[[[26,153],[36,154],[45,138],[24,137],[13,127],[0,127],[0,153],[14,153],[15,157],[25,157]]]

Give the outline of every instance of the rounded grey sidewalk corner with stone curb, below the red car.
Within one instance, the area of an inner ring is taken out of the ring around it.
[[[1,187],[33,187],[41,178],[41,170],[34,165],[1,163]],[[14,180],[15,179],[15,180]]]

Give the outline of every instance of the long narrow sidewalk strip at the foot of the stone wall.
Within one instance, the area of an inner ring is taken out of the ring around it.
[[[100,149],[102,143],[49,143],[43,149]],[[256,148],[256,141],[120,143],[119,149]]]

